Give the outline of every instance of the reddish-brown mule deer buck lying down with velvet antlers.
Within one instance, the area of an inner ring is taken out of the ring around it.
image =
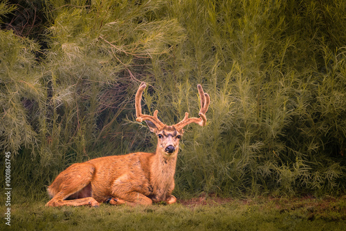
[[[136,152],[123,156],[105,156],[75,163],[61,172],[48,187],[53,198],[46,206],[91,205],[99,203],[113,205],[151,205],[165,201],[176,202],[174,190],[174,172],[179,140],[183,127],[194,122],[206,125],[206,112],[210,104],[208,93],[198,85],[201,98],[199,118],[185,118],[172,126],[167,126],[154,116],[142,114],[140,100],[146,85],[142,82],[136,93],[136,120],[145,120],[150,131],[158,137],[154,153]]]

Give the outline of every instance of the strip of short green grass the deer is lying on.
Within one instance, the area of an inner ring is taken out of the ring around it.
[[[346,198],[194,198],[175,205],[11,207],[0,230],[346,230]],[[4,211],[1,205],[1,211]]]

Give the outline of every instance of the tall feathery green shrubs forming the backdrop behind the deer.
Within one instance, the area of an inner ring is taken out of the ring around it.
[[[211,97],[207,126],[185,129],[176,196],[345,194],[345,8],[2,1],[0,160],[11,152],[13,192],[46,198],[71,163],[154,151],[134,122],[145,81],[145,111],[166,124],[197,116],[197,84]]]

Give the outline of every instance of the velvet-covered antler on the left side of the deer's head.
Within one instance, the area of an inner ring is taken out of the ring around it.
[[[136,120],[138,122],[142,122],[143,120],[149,120],[149,121],[153,122],[158,129],[162,129],[163,127],[165,127],[165,124],[163,124],[163,122],[158,120],[158,118],[157,118],[158,110],[154,111],[154,116],[142,114],[142,107],[140,105],[140,100],[142,100],[142,93],[146,87],[147,87],[147,85],[145,85],[145,82],[140,83],[140,86],[139,86],[138,91],[136,93],[136,104],[135,104],[136,117],[137,117]]]

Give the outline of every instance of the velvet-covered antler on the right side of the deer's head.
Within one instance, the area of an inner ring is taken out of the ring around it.
[[[199,118],[189,118],[189,113],[185,112],[185,117],[181,122],[174,125],[176,129],[180,130],[186,125],[195,122],[199,124],[200,126],[206,125],[207,118],[206,118],[206,112],[208,111],[208,107],[210,104],[210,96],[208,93],[204,93],[201,84],[197,85],[197,89],[199,91],[199,97],[201,98],[201,110],[199,110]]]

